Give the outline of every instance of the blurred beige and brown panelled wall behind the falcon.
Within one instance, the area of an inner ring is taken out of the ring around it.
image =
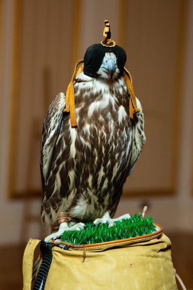
[[[174,247],[176,237],[193,237],[193,1],[1,0],[2,247],[45,235],[39,214],[43,121],[55,94],[66,92],[75,63],[103,39],[105,19],[127,53],[147,137],[116,216],[147,204]]]

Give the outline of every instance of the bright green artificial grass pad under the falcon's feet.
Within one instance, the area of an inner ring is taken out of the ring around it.
[[[64,231],[62,241],[71,244],[95,244],[106,241],[143,236],[156,231],[152,217],[142,218],[142,214],[130,216],[130,219],[116,221],[113,227],[108,228],[108,223],[92,225],[85,223],[87,228],[80,231]]]

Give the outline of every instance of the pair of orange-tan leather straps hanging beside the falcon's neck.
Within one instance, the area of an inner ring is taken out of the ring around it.
[[[84,59],[80,59],[76,63],[71,82],[69,83],[68,88],[66,90],[66,108],[63,110],[63,112],[70,112],[71,126],[77,126],[76,114],[75,114],[75,101],[74,101],[73,84],[75,83],[76,76],[80,72],[83,71],[84,65],[81,65],[81,67],[79,67],[78,71],[76,72],[78,65],[80,65],[83,62],[84,62]],[[130,118],[133,119],[133,114],[135,114],[136,112],[139,112],[140,110],[137,107],[131,75],[125,67],[124,67],[124,71],[123,71],[122,76],[125,78],[125,83],[127,84],[128,92],[130,94],[130,102],[129,102],[129,104],[130,104]]]

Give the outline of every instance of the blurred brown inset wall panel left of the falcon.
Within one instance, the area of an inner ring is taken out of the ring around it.
[[[12,125],[11,195],[40,192],[39,147],[43,121],[55,94],[71,79],[74,1],[26,0],[22,7],[21,74]],[[21,66],[21,67],[19,67]],[[69,69],[70,68],[70,69]],[[14,95],[13,95],[14,98]]]

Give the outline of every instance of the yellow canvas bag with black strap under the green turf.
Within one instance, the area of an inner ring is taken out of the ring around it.
[[[42,258],[33,289],[177,289],[171,242],[161,230],[146,236],[75,248],[30,239],[23,258],[23,290],[30,290],[34,250]]]

